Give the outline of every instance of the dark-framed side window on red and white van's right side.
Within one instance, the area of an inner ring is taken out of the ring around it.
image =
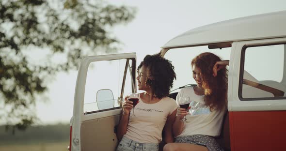
[[[285,45],[244,46],[238,96],[241,100],[285,99]]]

